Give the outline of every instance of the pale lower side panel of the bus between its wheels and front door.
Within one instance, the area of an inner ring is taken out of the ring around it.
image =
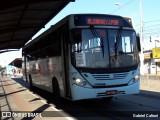
[[[58,80],[61,95],[64,96],[61,63],[61,57],[30,61],[29,74],[32,77],[33,85],[52,93],[52,79],[55,77]]]

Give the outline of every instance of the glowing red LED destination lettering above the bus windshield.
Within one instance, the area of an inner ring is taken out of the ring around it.
[[[87,18],[86,23],[88,25],[108,25],[108,26],[118,26],[118,19],[104,19],[104,18]]]

